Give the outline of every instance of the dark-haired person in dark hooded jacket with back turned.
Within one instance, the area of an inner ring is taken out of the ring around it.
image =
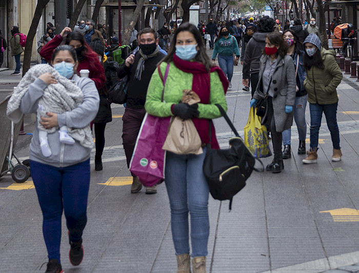
[[[242,84],[249,87],[249,80],[252,86],[252,96],[258,83],[260,72],[260,59],[266,44],[266,36],[273,31],[275,21],[269,16],[264,16],[258,23],[258,32],[255,32],[249,40],[243,59],[243,80]]]

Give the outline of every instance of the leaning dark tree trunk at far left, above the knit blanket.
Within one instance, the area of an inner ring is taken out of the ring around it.
[[[50,0],[38,0],[37,1],[35,12],[32,17],[31,26],[30,26],[29,32],[27,33],[27,37],[26,37],[24,62],[23,62],[23,76],[30,69],[32,44],[34,41],[34,37],[36,35],[36,29],[38,26],[38,22],[40,22],[40,18],[43,15],[43,10],[45,9],[45,7],[46,7],[47,3],[49,3],[49,1]]]

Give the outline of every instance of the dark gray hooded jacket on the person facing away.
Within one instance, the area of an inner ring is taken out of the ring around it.
[[[267,32],[255,32],[249,40],[243,59],[243,79],[249,79],[249,74],[260,72],[260,59],[266,46]]]

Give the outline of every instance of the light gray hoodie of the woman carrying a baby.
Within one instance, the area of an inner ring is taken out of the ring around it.
[[[57,122],[59,127],[66,125],[72,128],[83,128],[89,126],[95,118],[98,111],[99,96],[95,83],[89,78],[82,78],[75,74],[72,80],[83,91],[83,102],[72,111],[58,114]],[[39,78],[29,86],[20,105],[23,113],[36,113],[37,101],[43,95],[46,87],[47,84]],[[35,123],[37,124],[37,121]],[[90,158],[91,148],[86,148],[77,141],[73,145],[60,143],[58,131],[48,134],[48,141],[52,154],[50,157],[44,157],[38,139],[38,128],[35,126],[30,144],[30,160],[54,167],[67,167]]]

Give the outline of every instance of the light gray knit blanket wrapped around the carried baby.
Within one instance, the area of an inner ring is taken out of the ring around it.
[[[76,106],[82,103],[83,101],[83,92],[77,86],[75,81],[71,81],[66,77],[61,76],[52,66],[47,64],[35,65],[25,74],[23,79],[14,89],[9,102],[6,114],[10,120],[14,123],[17,123],[21,120],[23,113],[20,110],[21,100],[24,94],[29,89],[30,84],[32,84],[38,76],[50,72],[55,79],[57,84],[50,84],[44,89],[44,94],[39,99],[38,104],[41,104],[44,108],[43,111],[37,109],[37,128],[39,130],[46,131],[47,133],[53,133],[57,131],[58,127],[52,127],[50,129],[45,129],[39,121],[41,121],[40,116],[47,116],[46,112],[53,112],[57,114],[62,114],[68,111],[73,110]],[[84,128],[67,128],[68,134],[74,139],[77,140],[84,147],[93,147],[93,139],[90,126]]]

